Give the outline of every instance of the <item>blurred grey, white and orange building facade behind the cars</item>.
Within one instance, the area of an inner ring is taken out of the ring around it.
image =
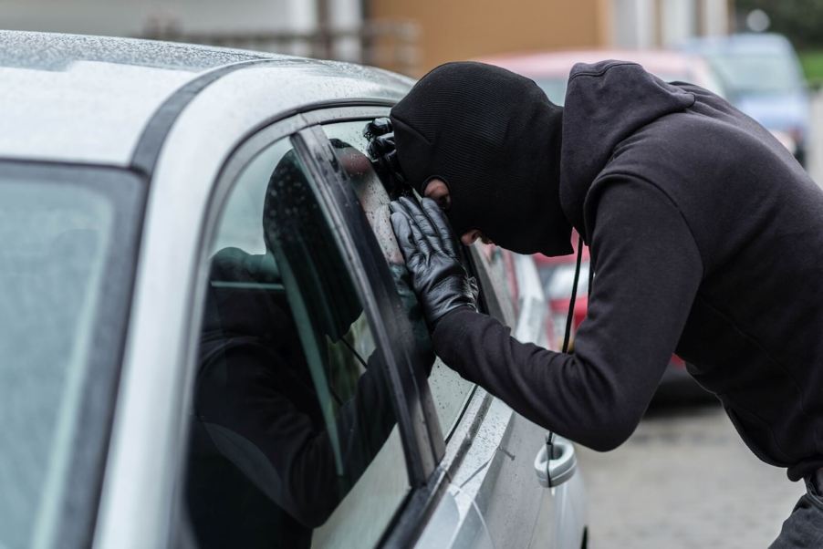
[[[333,57],[420,76],[445,61],[667,47],[729,32],[734,0],[0,0],[0,26]]]

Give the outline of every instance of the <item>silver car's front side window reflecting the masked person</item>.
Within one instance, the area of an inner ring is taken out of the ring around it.
[[[409,492],[383,353],[289,140],[210,250],[186,502],[201,547],[376,544]]]

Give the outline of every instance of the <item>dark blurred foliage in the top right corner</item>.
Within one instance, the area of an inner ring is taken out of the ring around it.
[[[768,14],[770,31],[786,35],[795,47],[823,47],[823,0],[736,0],[737,13],[760,8]]]

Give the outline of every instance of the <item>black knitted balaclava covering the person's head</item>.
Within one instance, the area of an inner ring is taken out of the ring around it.
[[[479,229],[513,252],[572,254],[560,209],[563,109],[532,80],[484,63],[446,63],[391,109],[397,157],[422,194],[445,181],[455,233]]]

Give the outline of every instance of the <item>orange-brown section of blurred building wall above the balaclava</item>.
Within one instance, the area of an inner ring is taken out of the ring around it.
[[[498,53],[610,43],[611,0],[370,0],[373,20],[408,20],[419,35],[419,70]],[[419,76],[419,75],[417,75]]]

